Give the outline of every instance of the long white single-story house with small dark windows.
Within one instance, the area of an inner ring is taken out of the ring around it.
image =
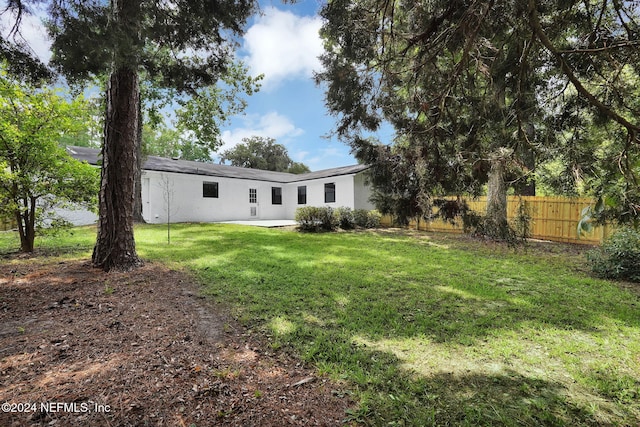
[[[97,149],[67,150],[98,164]],[[142,215],[149,223],[168,216],[171,222],[292,220],[301,206],[374,209],[366,165],[295,175],[148,156],[142,169]]]

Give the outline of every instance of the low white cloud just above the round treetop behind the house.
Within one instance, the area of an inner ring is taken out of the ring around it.
[[[242,143],[242,138],[251,136],[269,137],[275,139],[278,144],[286,145],[291,142],[291,138],[300,136],[303,133],[304,131],[296,127],[288,117],[275,111],[263,116],[249,115],[244,117],[244,123],[241,127],[222,132],[224,144],[220,147],[218,153]]]

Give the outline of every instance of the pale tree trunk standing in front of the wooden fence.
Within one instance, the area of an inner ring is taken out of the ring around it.
[[[505,169],[511,152],[509,149],[501,148],[489,157],[491,169],[487,182],[485,232],[489,237],[498,240],[508,238],[509,233]]]

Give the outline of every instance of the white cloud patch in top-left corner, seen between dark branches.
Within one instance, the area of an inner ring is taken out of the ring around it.
[[[46,11],[42,7],[34,7],[32,15],[23,15],[20,24],[20,36],[15,36],[16,42],[25,43],[44,63],[51,59],[51,40],[47,35],[42,19],[46,16]],[[15,23],[13,13],[3,13],[0,15],[0,32],[3,37],[7,37]]]

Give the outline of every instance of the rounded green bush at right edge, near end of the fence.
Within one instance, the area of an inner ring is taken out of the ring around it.
[[[607,279],[640,283],[640,231],[622,228],[587,253],[591,270]]]

